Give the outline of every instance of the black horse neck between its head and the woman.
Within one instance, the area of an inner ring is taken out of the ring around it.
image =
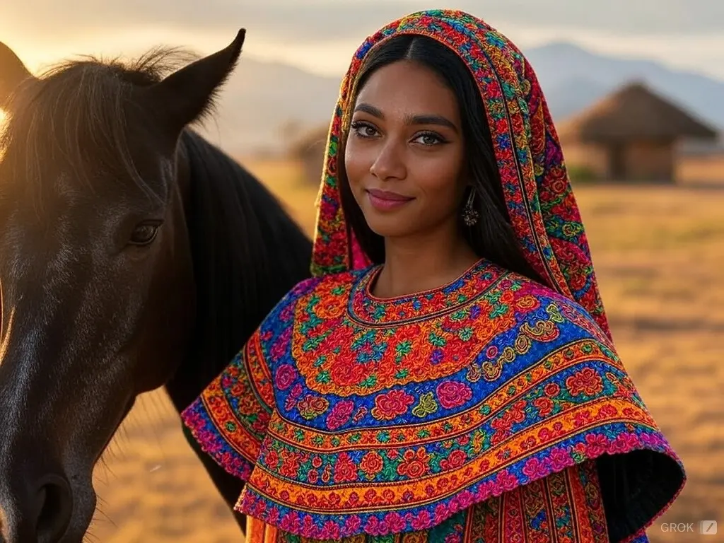
[[[179,411],[309,276],[311,262],[311,240],[251,173],[194,132],[185,132],[180,145],[196,315],[188,356],[167,383]]]

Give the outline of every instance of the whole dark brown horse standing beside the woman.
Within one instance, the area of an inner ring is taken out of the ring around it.
[[[83,539],[93,467],[135,397],[165,384],[185,408],[309,275],[308,237],[188,128],[211,111],[244,36],[170,75],[172,57],[156,51],[35,77],[0,44],[0,526],[9,543]],[[240,481],[197,454],[232,505]]]

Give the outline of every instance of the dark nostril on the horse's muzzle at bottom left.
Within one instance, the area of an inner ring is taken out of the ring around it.
[[[70,484],[59,476],[48,476],[38,490],[35,523],[38,542],[55,542],[65,533],[73,512]]]

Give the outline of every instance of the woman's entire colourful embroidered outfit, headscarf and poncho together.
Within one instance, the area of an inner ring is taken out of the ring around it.
[[[355,77],[401,33],[479,83],[508,213],[540,285],[482,258],[392,300],[337,180]],[[420,12],[355,54],[332,119],[312,270],[182,413],[246,481],[251,542],[645,541],[684,472],[620,362],[534,72],[468,14]]]

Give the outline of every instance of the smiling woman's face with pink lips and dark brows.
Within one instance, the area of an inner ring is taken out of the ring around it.
[[[371,230],[456,231],[464,159],[458,103],[435,72],[400,61],[369,77],[355,102],[345,171]]]

